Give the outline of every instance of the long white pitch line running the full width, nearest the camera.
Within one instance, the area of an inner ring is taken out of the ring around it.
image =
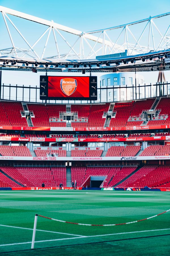
[[[142,232],[153,232],[153,231],[162,231],[162,230],[170,230],[170,228],[154,229],[154,230],[142,230],[142,231],[133,231],[133,232],[124,232],[124,233],[113,233],[113,234],[95,235],[95,236],[82,236],[82,237],[72,237],[72,238],[61,238],[61,239],[52,239],[52,240],[42,240],[42,241],[35,241],[35,243],[50,242],[50,241],[61,241],[61,240],[71,240],[71,239],[78,239],[78,238],[91,238],[91,237],[101,237],[101,236],[113,236],[113,235],[133,234],[133,233],[142,233]],[[27,243],[32,243],[32,242],[8,243],[8,244],[1,244],[0,246],[9,246],[9,245],[18,245],[18,244],[27,244]]]

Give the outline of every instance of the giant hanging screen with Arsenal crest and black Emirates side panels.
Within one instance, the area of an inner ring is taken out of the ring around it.
[[[97,100],[97,77],[40,76],[40,100]]]

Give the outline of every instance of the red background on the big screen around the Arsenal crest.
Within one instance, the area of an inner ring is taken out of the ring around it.
[[[60,81],[67,77],[48,77],[48,97],[51,98],[88,98],[89,77],[68,77],[77,80],[77,88],[73,94],[67,96],[60,87]]]

